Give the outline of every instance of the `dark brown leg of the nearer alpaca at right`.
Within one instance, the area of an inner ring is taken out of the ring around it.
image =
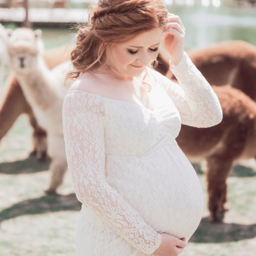
[[[210,156],[206,161],[208,208],[211,220],[220,222],[224,217],[224,204],[227,194],[226,180],[232,166],[232,160],[223,160],[218,156]]]

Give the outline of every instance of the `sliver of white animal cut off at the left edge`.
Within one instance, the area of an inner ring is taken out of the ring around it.
[[[4,82],[4,74],[8,67],[8,55],[6,49],[7,31],[2,24],[0,24],[0,86]]]

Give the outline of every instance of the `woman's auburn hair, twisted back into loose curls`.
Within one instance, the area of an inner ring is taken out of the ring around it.
[[[83,72],[105,67],[106,49],[148,30],[165,28],[167,14],[161,0],[99,0],[89,8],[89,22],[79,25],[71,52],[74,70],[67,77],[77,78]],[[155,60],[150,66],[156,65]]]

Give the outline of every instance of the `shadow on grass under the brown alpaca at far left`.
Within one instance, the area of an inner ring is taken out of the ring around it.
[[[34,156],[14,162],[0,163],[0,174],[29,174],[48,170],[50,158],[45,161],[38,161]]]

